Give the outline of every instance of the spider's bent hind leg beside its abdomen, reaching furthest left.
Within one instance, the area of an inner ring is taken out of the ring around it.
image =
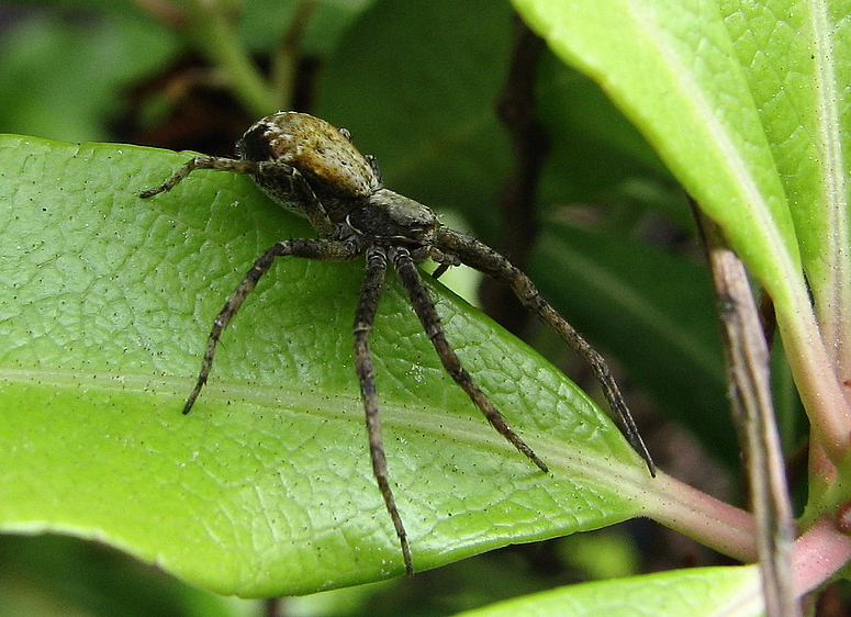
[[[331,218],[328,218],[325,207],[313,193],[313,190],[301,172],[294,167],[273,160],[255,161],[199,155],[178,169],[171,178],[163,182],[159,187],[148,189],[139,197],[142,199],[147,199],[158,193],[170,191],[195,169],[250,173],[251,176],[261,176],[265,178],[288,178],[290,180],[290,191],[298,195],[295,202],[299,203],[299,210],[304,213],[313,228],[316,229],[316,233],[321,236],[328,237],[335,229],[335,225],[331,222]]]

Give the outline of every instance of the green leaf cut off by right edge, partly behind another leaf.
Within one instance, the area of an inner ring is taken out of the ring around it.
[[[851,310],[851,2],[719,3],[785,191],[828,347]],[[829,350],[843,374],[851,357]]]

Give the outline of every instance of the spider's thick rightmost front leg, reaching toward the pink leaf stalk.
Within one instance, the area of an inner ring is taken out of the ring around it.
[[[594,377],[600,382],[603,395],[615,413],[627,441],[645,460],[650,474],[656,476],[656,463],[643,439],[641,439],[638,426],[636,426],[632,415],[626,406],[624,396],[620,394],[620,390],[605,359],[589,345],[573,326],[559,315],[558,311],[549,302],[544,300],[531,280],[505,257],[472,236],[461,234],[448,227],[440,227],[436,234],[435,245],[440,250],[454,254],[462,263],[506,285],[528,311],[545,325],[556,330],[568,345],[585,359],[594,371]]]

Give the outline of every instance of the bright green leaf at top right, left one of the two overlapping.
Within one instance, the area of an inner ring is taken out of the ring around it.
[[[779,268],[794,269],[798,257],[792,218],[717,3],[516,5],[560,57],[603,83],[698,203],[724,221],[760,278],[783,284]]]

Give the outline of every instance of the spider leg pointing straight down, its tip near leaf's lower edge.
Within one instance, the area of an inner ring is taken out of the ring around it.
[[[411,559],[411,547],[407,542],[407,534],[399,514],[393,491],[388,481],[388,463],[384,457],[384,444],[381,438],[381,419],[378,414],[378,393],[376,389],[376,371],[372,364],[372,356],[369,351],[369,334],[376,321],[376,311],[381,298],[381,289],[384,285],[388,256],[384,249],[372,247],[367,253],[367,274],[360,289],[360,301],[355,313],[355,368],[360,381],[360,395],[363,399],[363,408],[367,413],[367,434],[369,436],[369,453],[372,459],[372,472],[378,482],[381,496],[384,498],[393,527],[396,530],[399,543],[402,546],[402,558],[405,561],[405,571],[408,575],[414,573],[414,563]]]

